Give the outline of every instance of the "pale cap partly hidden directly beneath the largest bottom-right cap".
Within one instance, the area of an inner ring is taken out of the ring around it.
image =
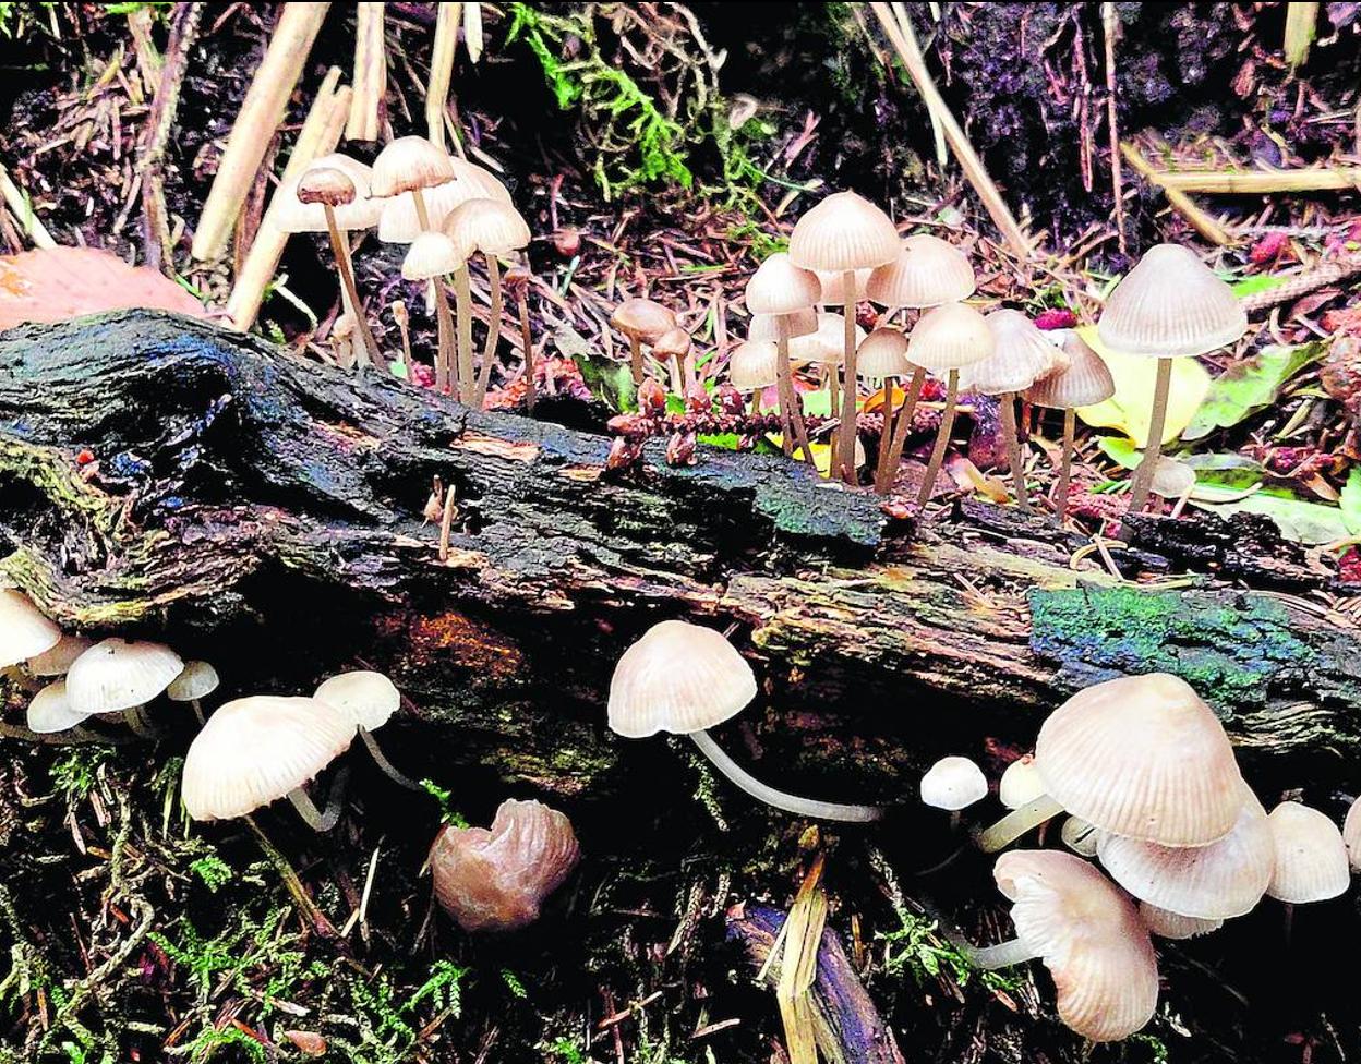
[[[1230,920],[1255,909],[1275,867],[1267,812],[1252,793],[1233,830],[1209,846],[1102,834],[1097,853],[1111,878],[1139,901],[1202,920]]]

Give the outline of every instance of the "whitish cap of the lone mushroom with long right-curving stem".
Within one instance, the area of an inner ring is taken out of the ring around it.
[[[713,728],[757,697],[751,665],[721,631],[663,620],[623,652],[610,680],[610,728],[626,739]]]

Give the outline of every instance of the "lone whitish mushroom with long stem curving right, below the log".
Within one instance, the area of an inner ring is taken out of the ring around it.
[[[757,801],[822,820],[868,823],[883,810],[842,805],[776,791],[723,752],[706,731],[735,717],[755,698],[751,665],[721,633],[685,620],[653,625],[633,644],[610,679],[610,729],[626,739],[657,732],[687,735],[731,782]]]

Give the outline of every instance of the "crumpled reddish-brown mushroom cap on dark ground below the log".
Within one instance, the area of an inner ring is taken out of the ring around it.
[[[434,895],[464,931],[517,931],[539,918],[580,856],[563,814],[509,799],[490,830],[440,830],[430,846]]]

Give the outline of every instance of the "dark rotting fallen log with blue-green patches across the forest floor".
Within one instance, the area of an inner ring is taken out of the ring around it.
[[[408,720],[456,737],[431,759],[559,793],[614,769],[612,663],[678,615],[738,625],[758,661],[742,757],[842,792],[901,793],[924,761],[1025,743],[1077,687],[1151,669],[1248,750],[1342,773],[1361,744],[1356,626],[1268,525],[1146,518],[1117,554],[1131,582],[1011,509],[915,531],[781,457],[671,468],[653,444],[608,472],[608,446],[186,318],[24,327],[0,335],[0,578],[235,690],[391,669]],[[437,476],[459,506],[444,562]]]

